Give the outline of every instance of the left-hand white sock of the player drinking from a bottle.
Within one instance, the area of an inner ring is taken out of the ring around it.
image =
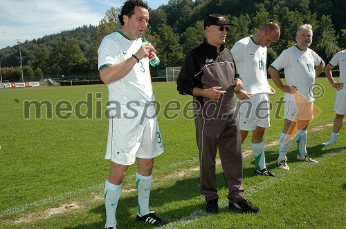
[[[120,199],[122,184],[116,186],[106,180],[104,186],[104,205],[106,206],[106,227],[116,227],[116,208]]]

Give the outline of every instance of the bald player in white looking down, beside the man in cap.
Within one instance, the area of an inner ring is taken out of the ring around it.
[[[266,168],[263,141],[264,132],[270,126],[268,94],[275,94],[267,79],[266,50],[279,37],[280,27],[277,23],[266,23],[260,31],[237,41],[230,50],[244,82],[243,90],[251,93],[250,99],[238,99],[237,106],[242,143],[248,132],[253,131],[251,146],[255,155],[255,175],[274,176]]]

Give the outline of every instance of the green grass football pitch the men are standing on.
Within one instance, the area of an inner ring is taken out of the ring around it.
[[[245,194],[260,206],[257,215],[228,211],[220,165],[220,213],[206,214],[188,106],[192,97],[180,95],[175,83],[154,83],[165,153],[155,160],[150,206],[170,222],[165,228],[345,228],[340,219],[346,216],[346,131],[344,126],[336,145],[320,145],[331,136],[336,91],[327,79],[316,83],[321,97],[315,105],[322,112],[309,125],[307,150],[318,163],[298,162],[292,141],[291,170],[277,168],[283,107],[279,110],[275,101],[283,95],[280,90],[271,97],[271,128],[265,135],[266,164],[278,176],[255,176],[252,153],[244,157]],[[103,159],[107,87],[1,89],[0,97],[0,228],[103,228],[102,197],[109,173],[109,161]],[[25,110],[28,101],[44,101],[41,119],[33,106]],[[250,139],[251,134],[244,142],[246,152]],[[123,183],[118,226],[154,228],[136,222],[135,172],[136,165],[130,166]]]

